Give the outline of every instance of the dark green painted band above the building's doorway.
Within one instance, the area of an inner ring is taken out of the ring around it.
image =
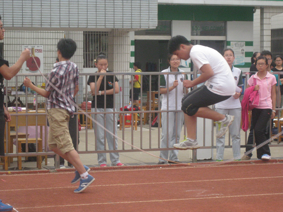
[[[253,8],[251,6],[158,4],[158,20],[253,21]]]

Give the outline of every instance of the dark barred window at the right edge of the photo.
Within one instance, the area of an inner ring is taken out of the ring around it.
[[[271,52],[283,57],[283,29],[271,30]]]

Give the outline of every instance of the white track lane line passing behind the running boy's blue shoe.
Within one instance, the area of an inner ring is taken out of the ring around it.
[[[170,183],[190,183],[190,182],[217,182],[217,181],[239,181],[239,180],[263,180],[263,179],[275,179],[283,178],[283,176],[277,177],[258,177],[258,178],[235,178],[235,179],[217,179],[217,180],[198,180],[198,181],[176,181],[176,182],[144,182],[144,183],[125,183],[125,184],[106,184],[106,185],[90,185],[89,187],[104,187],[104,186],[125,186],[125,185],[152,185],[152,184],[170,184]],[[27,190],[44,190],[44,189],[62,189],[62,188],[75,188],[77,186],[66,187],[50,187],[50,188],[24,188],[24,189],[8,189],[0,190],[0,192],[7,191],[27,191]]]

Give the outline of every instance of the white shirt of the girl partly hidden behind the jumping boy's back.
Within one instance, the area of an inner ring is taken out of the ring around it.
[[[240,76],[242,76],[241,72],[242,71],[239,68],[232,66],[232,74],[234,77],[234,83],[238,87],[241,87],[244,85],[242,83],[239,84]],[[233,96],[231,96],[230,98],[215,104],[215,108],[234,109],[234,108],[242,108],[242,106],[241,106],[240,98],[235,99]]]

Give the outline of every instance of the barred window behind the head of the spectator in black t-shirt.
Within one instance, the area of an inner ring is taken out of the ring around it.
[[[108,32],[84,31],[84,68],[92,68],[99,52],[108,53]]]

